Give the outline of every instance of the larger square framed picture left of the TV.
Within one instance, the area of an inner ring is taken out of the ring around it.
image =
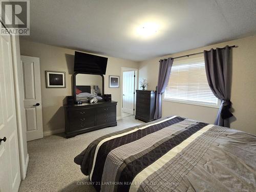
[[[46,88],[66,88],[66,72],[46,71]]]

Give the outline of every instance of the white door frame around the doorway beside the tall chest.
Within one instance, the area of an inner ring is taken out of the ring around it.
[[[122,111],[122,106],[123,106],[123,72],[125,71],[135,71],[135,86],[134,86],[134,115],[136,114],[136,89],[138,89],[138,69],[136,68],[126,68],[126,67],[121,67],[121,78],[120,78],[120,84],[121,84],[121,104],[120,104],[120,110],[121,110],[121,116],[120,119],[123,118],[123,111]]]

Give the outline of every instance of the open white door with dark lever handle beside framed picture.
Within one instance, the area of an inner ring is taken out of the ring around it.
[[[38,57],[21,55],[20,58],[22,59],[27,141],[31,141],[43,137],[40,64]]]

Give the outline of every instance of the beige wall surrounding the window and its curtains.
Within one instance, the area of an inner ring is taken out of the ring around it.
[[[158,79],[159,59],[197,53],[226,45],[238,46],[238,48],[232,49],[230,55],[232,63],[231,102],[234,115],[230,126],[256,135],[256,36],[142,61],[139,63],[139,81],[142,78],[147,79],[148,89],[155,90]],[[216,108],[170,101],[163,101],[162,110],[163,116],[179,115],[207,123],[214,123],[218,112]]]

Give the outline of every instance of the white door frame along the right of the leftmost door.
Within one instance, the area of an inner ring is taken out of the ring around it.
[[[0,25],[5,28],[6,25],[2,22],[0,16]],[[20,63],[20,46],[19,36],[12,35],[11,37],[11,50],[12,50],[12,70],[13,70],[13,83],[14,83],[14,99],[16,109],[16,121],[17,121],[17,136],[18,136],[18,152],[19,152],[19,167],[20,167],[20,179],[24,180],[27,174],[29,154],[27,149],[27,137],[26,137],[26,119],[24,108],[24,88],[22,83],[21,63]]]

